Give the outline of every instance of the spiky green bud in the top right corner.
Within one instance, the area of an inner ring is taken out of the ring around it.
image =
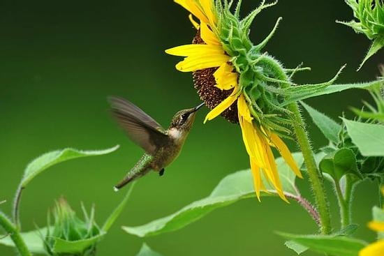
[[[339,22],[351,27],[356,33],[364,33],[373,40],[369,51],[360,64],[359,69],[370,57],[384,46],[384,3],[381,0],[346,0],[358,20]]]

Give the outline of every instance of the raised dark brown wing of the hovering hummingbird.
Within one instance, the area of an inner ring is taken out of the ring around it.
[[[165,144],[168,135],[151,116],[123,98],[110,97],[108,99],[112,106],[112,114],[133,142],[151,155],[154,155],[157,149]]]

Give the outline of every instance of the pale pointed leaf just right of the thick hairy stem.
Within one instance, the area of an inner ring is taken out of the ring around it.
[[[339,133],[341,131],[341,125],[330,119],[330,117],[326,116],[325,114],[318,112],[313,107],[303,102],[301,102],[301,104],[307,110],[313,120],[313,123],[318,126],[323,135],[331,142],[334,142],[334,144],[339,143]]]

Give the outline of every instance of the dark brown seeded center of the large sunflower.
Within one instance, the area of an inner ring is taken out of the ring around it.
[[[192,41],[193,44],[204,45],[205,42],[200,36],[200,30],[196,33],[195,38]],[[211,110],[219,105],[223,100],[230,96],[233,90],[224,90],[217,88],[214,73],[218,68],[205,68],[193,72],[193,83],[195,89],[198,90],[200,99],[205,102],[205,105]],[[225,110],[221,116],[230,121],[231,123],[239,123],[237,117],[237,100],[227,110]]]

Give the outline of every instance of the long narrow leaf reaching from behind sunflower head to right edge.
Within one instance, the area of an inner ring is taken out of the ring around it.
[[[318,90],[315,87],[312,90],[307,90],[302,93],[300,93],[300,91],[297,91],[297,93],[290,96],[290,98],[287,98],[286,100],[284,100],[279,106],[283,107],[290,103],[295,103],[297,101],[305,100],[307,98],[313,98],[313,97],[332,94],[332,93],[339,93],[341,91],[346,91],[348,89],[369,89],[373,86],[379,86],[383,82],[384,80],[376,80],[372,82],[364,82],[364,83],[357,83],[357,84],[333,84],[321,90]]]

